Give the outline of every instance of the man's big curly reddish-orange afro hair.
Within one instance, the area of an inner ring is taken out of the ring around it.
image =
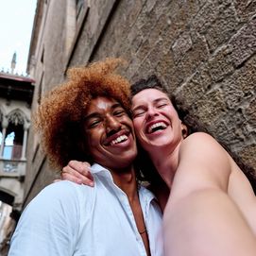
[[[34,114],[34,123],[54,167],[62,168],[72,159],[90,162],[82,146],[82,124],[93,98],[114,98],[129,111],[130,84],[125,77],[115,73],[124,63],[121,59],[106,59],[72,68],[68,71],[67,81],[43,97]]]

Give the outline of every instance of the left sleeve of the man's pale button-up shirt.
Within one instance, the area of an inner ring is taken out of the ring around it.
[[[22,213],[11,238],[9,256],[73,255],[79,213],[74,184],[60,181],[47,186]]]

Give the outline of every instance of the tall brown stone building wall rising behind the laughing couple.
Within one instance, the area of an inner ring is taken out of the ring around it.
[[[39,0],[28,71],[42,95],[69,67],[128,61],[131,82],[156,74],[217,139],[256,170],[256,1]],[[53,179],[30,131],[24,206]]]

